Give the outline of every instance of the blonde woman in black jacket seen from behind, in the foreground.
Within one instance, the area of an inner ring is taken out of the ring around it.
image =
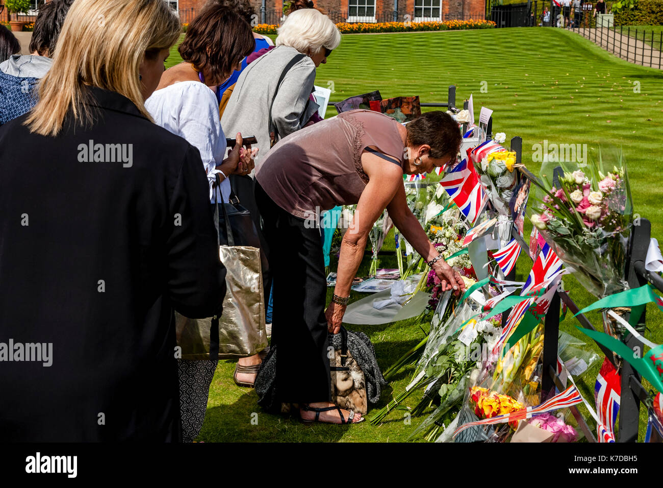
[[[198,150],[143,105],[179,35],[163,0],[76,0],[0,129],[5,442],[180,439],[173,309],[220,313],[225,270]]]

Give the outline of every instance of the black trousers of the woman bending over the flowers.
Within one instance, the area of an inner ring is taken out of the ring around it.
[[[320,228],[288,214],[256,182],[274,281],[272,345],[280,402],[331,401],[327,280]]]

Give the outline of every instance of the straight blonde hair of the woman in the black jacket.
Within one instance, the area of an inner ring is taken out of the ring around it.
[[[69,110],[91,122],[85,86],[117,92],[152,120],[141,94],[139,67],[146,51],[170,48],[180,19],[164,0],[76,0],[62,26],[53,64],[39,86],[39,102],[25,125],[57,135]]]

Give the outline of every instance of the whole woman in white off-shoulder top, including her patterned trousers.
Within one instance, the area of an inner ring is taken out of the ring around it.
[[[223,159],[226,141],[214,94],[216,86],[253,52],[254,46],[251,27],[237,13],[221,5],[208,4],[191,23],[180,44],[184,62],[164,72],[156,91],[145,102],[154,122],[183,137],[200,151],[210,183],[211,202],[220,203],[221,199],[227,202],[231,193],[229,175],[247,175],[254,167],[257,149],[241,147],[240,133],[236,135],[237,144]],[[221,179],[218,187],[217,177]],[[254,360],[260,362],[257,355]],[[202,428],[216,365],[216,361],[209,360],[178,360],[184,442],[192,442]]]

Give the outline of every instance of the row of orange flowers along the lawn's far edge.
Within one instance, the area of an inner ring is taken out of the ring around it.
[[[253,28],[258,34],[276,34],[276,25],[259,24]],[[462,29],[492,29],[493,21],[444,21],[444,22],[377,22],[336,24],[341,34],[363,34],[384,32],[412,32],[412,31],[455,31]]]

